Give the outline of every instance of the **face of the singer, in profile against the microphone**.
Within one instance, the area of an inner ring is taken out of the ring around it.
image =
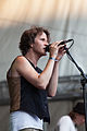
[[[45,33],[39,34],[35,38],[35,44],[33,44],[33,50],[39,56],[46,56],[45,48],[48,45],[48,38]]]

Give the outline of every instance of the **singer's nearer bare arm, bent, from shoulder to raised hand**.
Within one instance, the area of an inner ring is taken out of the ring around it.
[[[58,56],[58,44],[53,43],[50,47],[50,57],[57,58]],[[15,69],[20,75],[23,75],[34,86],[46,90],[51,79],[54,67],[54,60],[49,59],[45,70],[38,74],[25,57],[17,57],[15,61]]]

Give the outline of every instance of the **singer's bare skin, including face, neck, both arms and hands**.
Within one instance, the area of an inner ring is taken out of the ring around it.
[[[54,96],[58,87],[59,60],[64,55],[63,45],[58,46],[59,44],[60,41],[52,43],[49,50],[49,57],[54,58],[58,61],[48,59],[44,71],[38,74],[32,64],[27,61],[27,59],[30,60],[36,67],[39,58],[47,55],[45,50],[46,46],[48,45],[47,35],[44,32],[38,34],[34,43],[30,44],[30,48],[28,49],[25,57],[20,56],[16,58],[12,67],[12,75],[23,75],[35,87],[40,90],[48,90],[48,96]]]

